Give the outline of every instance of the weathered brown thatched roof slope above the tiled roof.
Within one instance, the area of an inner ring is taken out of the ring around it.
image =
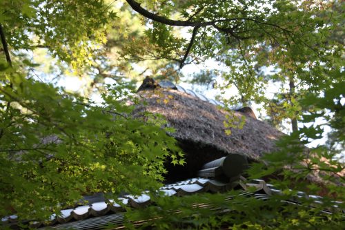
[[[146,104],[137,106],[135,115],[144,111],[164,115],[169,126],[176,130],[170,135],[179,141],[187,153],[187,163],[194,170],[231,153],[258,160],[264,153],[275,151],[275,141],[283,135],[276,128],[239,111],[231,113],[238,120],[246,116],[243,128],[230,128],[231,134],[226,135],[224,121],[230,113],[179,90],[155,87],[154,90],[140,90],[138,95]]]

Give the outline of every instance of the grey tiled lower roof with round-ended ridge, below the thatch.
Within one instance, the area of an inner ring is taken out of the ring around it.
[[[205,164],[203,169],[199,171],[199,175],[204,175],[204,178],[190,178],[173,184],[165,184],[159,191],[166,196],[184,196],[196,193],[226,193],[232,189],[243,191],[239,195],[246,195],[257,199],[266,200],[273,194],[282,194],[282,191],[275,189],[271,184],[266,184],[264,180],[246,180],[240,175],[228,174],[226,168],[229,159],[237,164],[243,165],[246,168],[246,162],[243,159],[238,159],[240,155],[228,155],[227,157],[219,158],[213,162]],[[243,157],[243,156],[242,156]],[[239,163],[241,162],[241,163]],[[215,170],[220,173],[212,173]],[[205,170],[209,170],[205,174]],[[235,171],[240,173],[241,170]],[[204,173],[204,174],[203,174]],[[230,171],[234,173],[234,171]],[[205,178],[208,177],[208,178]],[[299,198],[308,198],[317,202],[322,202],[322,197],[315,195],[306,195],[299,192],[293,200],[286,200],[286,203],[298,204]],[[229,200],[230,197],[225,200]],[[84,197],[89,205],[75,207],[74,209],[64,209],[61,215],[53,214],[49,220],[49,229],[100,229],[107,224],[121,224],[124,222],[124,207],[132,207],[134,209],[139,207],[146,207],[150,205],[151,198],[148,193],[142,193],[139,196],[124,195],[119,198],[121,205],[113,200],[105,200],[103,195],[95,195]],[[205,207],[208,207],[207,205]],[[336,203],[334,205],[336,207]],[[327,211],[325,211],[327,213]],[[15,225],[17,220],[16,215],[11,215],[2,218],[2,224]],[[46,224],[46,223],[45,223]],[[1,224],[0,224],[1,225]],[[47,228],[43,222],[33,222],[32,227]]]

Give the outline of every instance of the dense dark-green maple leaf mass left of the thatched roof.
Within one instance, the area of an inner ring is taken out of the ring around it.
[[[155,190],[167,157],[180,162],[161,126],[132,118],[125,86],[95,105],[12,68],[0,91],[1,216],[48,220],[82,195]]]

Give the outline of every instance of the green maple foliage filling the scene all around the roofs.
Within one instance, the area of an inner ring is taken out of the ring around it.
[[[294,193],[289,188],[298,189],[324,195],[324,204],[306,209],[282,207],[282,198],[265,203],[234,198],[227,205],[224,195],[199,195],[184,198],[182,206],[179,199],[157,198],[157,206],[130,211],[128,217],[164,217],[151,223],[157,229],[221,229],[229,223],[232,229],[339,228],[342,215],[319,211],[329,207],[327,198],[344,198],[344,164],[337,158],[345,127],[344,4],[141,2],[0,0],[0,215],[46,220],[81,195],[155,191],[166,172],[164,162],[183,164],[182,154],[159,117],[131,117],[122,79],[138,77],[140,71],[131,66],[140,66],[142,73],[176,80],[186,64],[213,59],[222,68],[196,74],[195,82],[220,76],[224,93],[231,86],[239,91],[224,102],[262,104],[274,124],[284,119],[292,124],[282,150],[253,165],[250,177],[275,172],[279,180],[272,182],[287,198]],[[53,78],[66,71],[90,77],[88,90],[101,89],[103,103],[48,84],[35,70]],[[117,84],[105,86],[106,78]],[[268,98],[265,88],[272,83],[281,88]],[[331,127],[329,141],[306,150],[302,144],[321,138],[324,126]],[[310,177],[322,186],[308,182]],[[218,215],[191,209],[195,200],[232,210]],[[175,209],[181,212],[170,215]]]

